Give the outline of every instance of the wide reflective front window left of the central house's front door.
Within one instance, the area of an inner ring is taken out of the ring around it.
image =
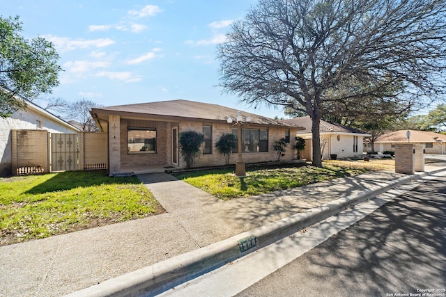
[[[128,127],[128,154],[156,154],[156,128]]]

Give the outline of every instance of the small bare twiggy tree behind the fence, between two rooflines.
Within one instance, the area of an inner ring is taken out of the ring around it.
[[[77,102],[68,104],[69,112],[66,118],[79,122],[82,131],[98,131],[95,121],[91,117],[91,109],[99,105],[91,100],[80,99]]]

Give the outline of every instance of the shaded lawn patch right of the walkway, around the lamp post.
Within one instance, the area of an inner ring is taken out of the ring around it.
[[[373,168],[362,166],[362,164],[358,166],[354,163],[324,162],[324,168],[302,166],[248,169],[247,177],[243,179],[236,177],[233,170],[229,169],[185,172],[176,177],[222,200],[229,200],[358,175],[369,170]]]

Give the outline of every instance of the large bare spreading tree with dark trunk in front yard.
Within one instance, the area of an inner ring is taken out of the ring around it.
[[[321,167],[330,102],[415,106],[443,92],[445,10],[443,0],[260,0],[218,47],[220,86],[248,104],[310,115]]]

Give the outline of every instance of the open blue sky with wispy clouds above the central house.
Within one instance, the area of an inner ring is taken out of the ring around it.
[[[25,38],[40,35],[54,43],[65,71],[43,99],[85,98],[105,106],[187,99],[282,117],[280,108],[254,109],[216,86],[216,46],[255,3],[0,0],[0,14],[20,16]]]

